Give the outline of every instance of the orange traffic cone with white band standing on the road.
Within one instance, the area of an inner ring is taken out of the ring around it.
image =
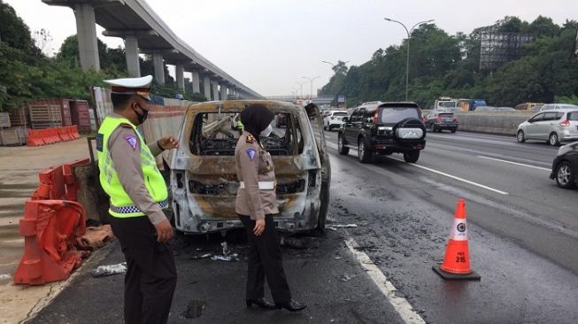
[[[459,199],[453,218],[451,237],[445,250],[442,266],[433,266],[435,273],[443,279],[480,280],[470,268],[470,254],[467,249],[466,201]]]

